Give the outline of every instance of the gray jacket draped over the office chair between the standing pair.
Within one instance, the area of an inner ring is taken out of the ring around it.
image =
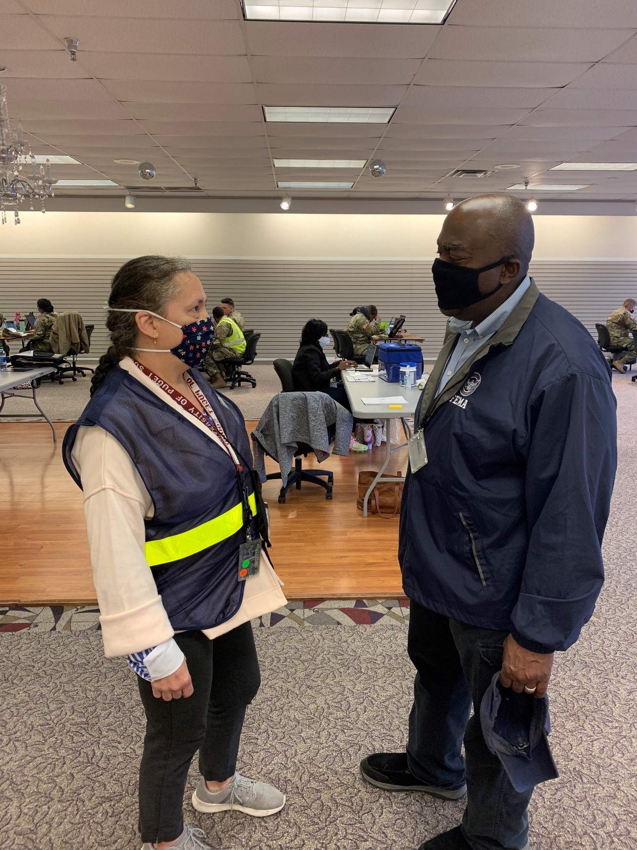
[[[265,455],[281,468],[282,484],[294,464],[300,443],[309,445],[319,463],[330,456],[328,427],[336,426],[334,454],[347,455],[352,434],[352,414],[326,393],[279,393],[252,432],[254,465],[266,480]]]

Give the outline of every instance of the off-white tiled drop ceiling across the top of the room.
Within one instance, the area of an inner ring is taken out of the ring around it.
[[[55,176],[119,184],[59,194],[141,192],[137,167],[113,160],[149,159],[151,188],[197,177],[221,197],[278,196],[278,182],[353,184],[295,196],[465,197],[525,177],[585,184],[543,199],[637,197],[634,171],[550,170],[637,161],[634,0],[457,0],[443,26],[245,21],[239,0],[0,0],[0,65],[35,152],[82,163]],[[264,105],[397,109],[388,124],[279,123]],[[372,156],[385,177],[299,167]],[[448,177],[459,167],[490,176]]]

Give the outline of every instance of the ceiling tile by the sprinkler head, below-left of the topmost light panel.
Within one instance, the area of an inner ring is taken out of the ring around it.
[[[80,59],[87,52],[141,54],[245,55],[239,21],[151,18],[91,18],[46,14],[38,20],[64,41],[70,32],[80,40]],[[2,37],[0,37],[1,40]],[[2,47],[0,42],[0,47]]]

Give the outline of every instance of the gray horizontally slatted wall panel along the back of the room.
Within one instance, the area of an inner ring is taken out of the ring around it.
[[[110,279],[126,259],[0,257],[0,312],[28,312],[37,298],[48,297],[56,310],[78,310],[95,325],[91,353],[103,354],[108,345],[103,307]],[[261,332],[260,359],[293,357],[307,319],[342,328],[350,310],[362,303],[375,303],[382,319],[404,313],[409,331],[425,337],[426,358],[435,358],[443,341],[445,320],[437,309],[431,260],[197,258],[193,270],[210,306],[233,297],[246,326]],[[595,337],[595,322],[604,322],[624,298],[637,297],[633,261],[538,260],[531,274],[542,292]]]

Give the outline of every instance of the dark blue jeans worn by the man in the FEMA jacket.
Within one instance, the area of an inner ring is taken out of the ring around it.
[[[482,737],[480,704],[502,666],[508,632],[468,626],[411,602],[408,652],[416,668],[409,714],[409,770],[428,785],[467,785],[462,819],[473,850],[522,850],[527,806]],[[470,719],[471,704],[474,714]],[[465,741],[465,758],[460,747]]]

